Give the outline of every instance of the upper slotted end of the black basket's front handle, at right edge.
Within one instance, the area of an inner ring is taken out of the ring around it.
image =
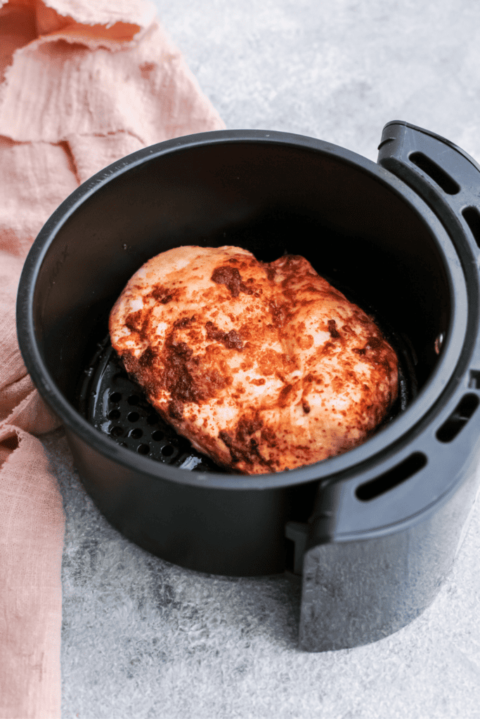
[[[408,122],[385,125],[377,162],[409,185],[450,234],[480,254],[480,165],[460,147]]]

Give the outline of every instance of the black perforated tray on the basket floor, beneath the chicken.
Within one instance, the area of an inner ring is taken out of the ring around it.
[[[416,394],[407,345],[391,332],[387,339],[399,357],[399,398],[382,426],[404,411]],[[225,472],[160,418],[140,386],[128,377],[109,336],[96,347],[79,388],[78,408],[89,423],[120,446],[158,462],[183,470]]]

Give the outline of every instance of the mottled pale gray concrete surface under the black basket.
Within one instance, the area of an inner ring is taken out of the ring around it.
[[[229,128],[312,135],[376,159],[404,119],[480,160],[480,6],[471,0],[157,0]],[[299,587],[197,574],[112,529],[63,431],[63,718],[480,718],[480,512],[435,603],[359,649],[296,649]]]

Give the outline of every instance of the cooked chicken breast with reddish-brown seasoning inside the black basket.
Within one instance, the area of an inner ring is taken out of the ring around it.
[[[160,416],[243,474],[347,452],[397,398],[379,328],[298,255],[169,249],[133,275],[109,329]]]

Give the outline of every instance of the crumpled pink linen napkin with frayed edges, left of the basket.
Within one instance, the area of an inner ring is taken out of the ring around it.
[[[15,300],[42,224],[110,162],[225,125],[145,0],[0,0],[0,719],[60,716],[63,506],[55,428]]]

